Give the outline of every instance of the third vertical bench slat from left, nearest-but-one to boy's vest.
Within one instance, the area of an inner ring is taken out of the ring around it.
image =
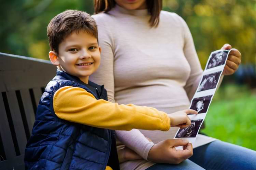
[[[28,122],[29,133],[31,135],[33,124],[34,124],[34,121],[35,121],[35,116],[34,116],[34,110],[33,110],[33,107],[32,107],[32,102],[31,102],[31,99],[30,99],[29,90],[28,89],[20,90],[20,94],[22,96],[22,102],[23,102],[23,105],[24,105],[26,119],[27,119],[27,122]]]

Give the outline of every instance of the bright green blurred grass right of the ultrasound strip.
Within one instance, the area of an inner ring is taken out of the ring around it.
[[[256,95],[246,87],[227,85],[214,96],[203,133],[256,150]]]

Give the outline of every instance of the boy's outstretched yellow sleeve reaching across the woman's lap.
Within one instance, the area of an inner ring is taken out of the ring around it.
[[[53,98],[55,114],[64,120],[112,130],[170,129],[170,118],[155,108],[97,100],[79,87],[65,86]]]

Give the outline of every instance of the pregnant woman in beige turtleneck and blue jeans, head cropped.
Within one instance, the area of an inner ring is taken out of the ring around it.
[[[185,21],[161,8],[161,0],[95,0],[97,15],[93,17],[102,64],[90,79],[105,85],[109,101],[155,107],[170,114],[189,107],[202,69]],[[240,52],[232,50],[223,74],[233,74],[240,63]],[[138,154],[128,152],[128,159],[139,159],[126,161],[120,168],[256,168],[255,151],[203,135],[198,135],[190,157],[187,150],[174,148],[182,146],[182,140],[172,139],[176,131],[116,131],[117,138]]]

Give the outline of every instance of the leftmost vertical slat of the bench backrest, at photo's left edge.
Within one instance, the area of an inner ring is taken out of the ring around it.
[[[1,109],[1,119],[0,119],[0,133],[2,137],[3,147],[6,159],[11,159],[16,156],[12,134],[10,126],[8,123],[8,118],[5,112],[4,102],[2,93],[0,93],[0,109]]]

